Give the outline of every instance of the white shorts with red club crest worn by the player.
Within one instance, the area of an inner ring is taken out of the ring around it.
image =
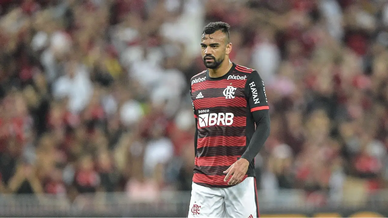
[[[259,217],[255,177],[229,188],[192,183],[187,217]]]

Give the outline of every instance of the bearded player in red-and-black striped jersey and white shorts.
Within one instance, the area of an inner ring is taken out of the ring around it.
[[[253,161],[270,131],[264,83],[229,60],[229,24],[208,24],[201,47],[208,69],[191,78],[197,128],[189,217],[259,217]]]

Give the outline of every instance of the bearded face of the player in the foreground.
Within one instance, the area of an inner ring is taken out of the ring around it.
[[[225,33],[218,30],[215,33],[202,36],[201,41],[203,64],[210,69],[217,69],[225,55],[229,55],[232,44],[227,43]]]

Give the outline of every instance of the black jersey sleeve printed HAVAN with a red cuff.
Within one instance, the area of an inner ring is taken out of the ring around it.
[[[245,85],[245,93],[251,112],[269,109],[262,78],[253,71]]]

